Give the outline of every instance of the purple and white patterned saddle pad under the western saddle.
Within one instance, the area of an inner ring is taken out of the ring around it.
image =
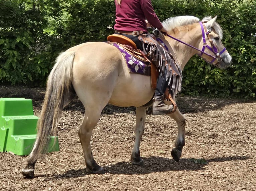
[[[150,76],[150,72],[151,72],[150,63],[145,63],[145,62],[142,62],[142,61],[134,58],[122,46],[120,46],[116,43],[111,43],[111,44],[113,46],[115,46],[116,48],[118,48],[120,50],[120,52],[123,54],[130,73],[136,73],[136,74],[142,74],[145,76]]]

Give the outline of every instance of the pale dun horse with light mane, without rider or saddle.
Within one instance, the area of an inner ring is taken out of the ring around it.
[[[215,67],[229,67],[232,58],[221,42],[223,30],[216,19],[217,16],[205,17],[200,21],[194,16],[178,16],[162,22],[168,35],[159,31],[157,35],[171,52],[181,71],[195,54]],[[84,120],[78,134],[90,173],[104,173],[104,169],[94,160],[90,139],[101,112],[108,103],[136,107],[135,142],[130,159],[133,164],[144,165],[139,150],[145,126],[144,105],[153,95],[150,76],[130,73],[123,55],[111,44],[86,42],[60,53],[48,76],[36,141],[26,158],[26,166],[21,170],[22,175],[25,178],[34,177],[39,154],[44,153],[50,135],[56,135],[61,111],[74,96],[78,96],[85,107]],[[175,95],[173,98],[175,100]],[[178,108],[167,115],[176,121],[178,127],[171,156],[179,161],[185,144],[186,121]]]

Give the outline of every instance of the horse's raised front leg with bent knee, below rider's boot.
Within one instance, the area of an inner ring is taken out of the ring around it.
[[[173,118],[178,126],[178,136],[175,140],[175,148],[171,150],[171,156],[173,160],[176,162],[179,161],[179,158],[181,156],[182,148],[185,145],[185,126],[186,126],[186,120],[184,116],[180,113],[179,109],[174,113],[169,114],[171,118]]]

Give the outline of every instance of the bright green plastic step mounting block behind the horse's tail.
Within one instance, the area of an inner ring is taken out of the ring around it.
[[[28,155],[36,139],[37,120],[31,99],[0,98],[0,152]],[[58,151],[58,138],[52,136],[49,145],[48,152]]]

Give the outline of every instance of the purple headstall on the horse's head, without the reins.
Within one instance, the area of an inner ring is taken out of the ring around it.
[[[220,64],[220,62],[222,61],[222,57],[220,55],[223,52],[225,52],[226,48],[224,47],[224,49],[219,53],[219,50],[218,50],[217,46],[214,45],[213,40],[210,38],[210,35],[209,35],[212,32],[212,30],[210,29],[209,31],[207,31],[207,29],[204,25],[205,22],[199,22],[199,23],[200,23],[200,26],[201,26],[202,35],[203,35],[203,43],[204,43],[200,56],[202,56],[203,54],[206,54],[205,53],[205,48],[208,48],[210,51],[212,51],[216,55],[216,57],[213,57],[213,60],[210,62],[210,64],[212,64],[216,59],[218,59],[218,63],[215,65],[215,66],[218,66]],[[207,35],[207,37],[209,39],[209,42],[211,43],[212,47],[210,47],[206,43],[205,34]]]

